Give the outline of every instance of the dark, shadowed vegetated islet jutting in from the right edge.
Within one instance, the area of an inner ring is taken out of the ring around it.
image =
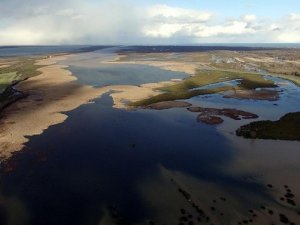
[[[278,121],[257,121],[241,126],[236,134],[245,138],[300,141],[300,112],[288,113]]]

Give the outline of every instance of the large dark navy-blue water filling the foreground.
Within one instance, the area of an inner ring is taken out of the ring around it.
[[[108,95],[81,106],[13,157],[17,170],[2,172],[1,196],[24,204],[28,219],[19,224],[97,224],[108,205],[117,205],[128,224],[143,221],[148,212],[136,185],[155,176],[158,165],[255,188],[219,171],[232,154],[226,140],[185,109],[128,112],[111,106]]]

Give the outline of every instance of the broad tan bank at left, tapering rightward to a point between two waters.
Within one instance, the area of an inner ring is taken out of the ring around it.
[[[42,74],[15,87],[29,96],[9,106],[2,113],[1,158],[8,158],[13,152],[21,150],[29,136],[41,134],[48,127],[62,123],[67,118],[64,112],[73,110],[108,90],[73,82],[76,78],[65,66],[55,64],[65,57],[57,56],[38,61],[38,65],[45,66],[39,69]]]

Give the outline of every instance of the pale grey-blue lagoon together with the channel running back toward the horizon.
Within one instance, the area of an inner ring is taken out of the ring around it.
[[[94,87],[140,85],[183,79],[188,76],[186,73],[172,72],[147,65],[108,63],[116,58],[116,52],[120,49],[122,48],[113,47],[77,54],[62,63],[69,65],[68,69],[76,76],[79,83]]]

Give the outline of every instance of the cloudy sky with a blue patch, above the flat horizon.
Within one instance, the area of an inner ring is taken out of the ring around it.
[[[0,0],[0,45],[299,42],[299,0]]]

